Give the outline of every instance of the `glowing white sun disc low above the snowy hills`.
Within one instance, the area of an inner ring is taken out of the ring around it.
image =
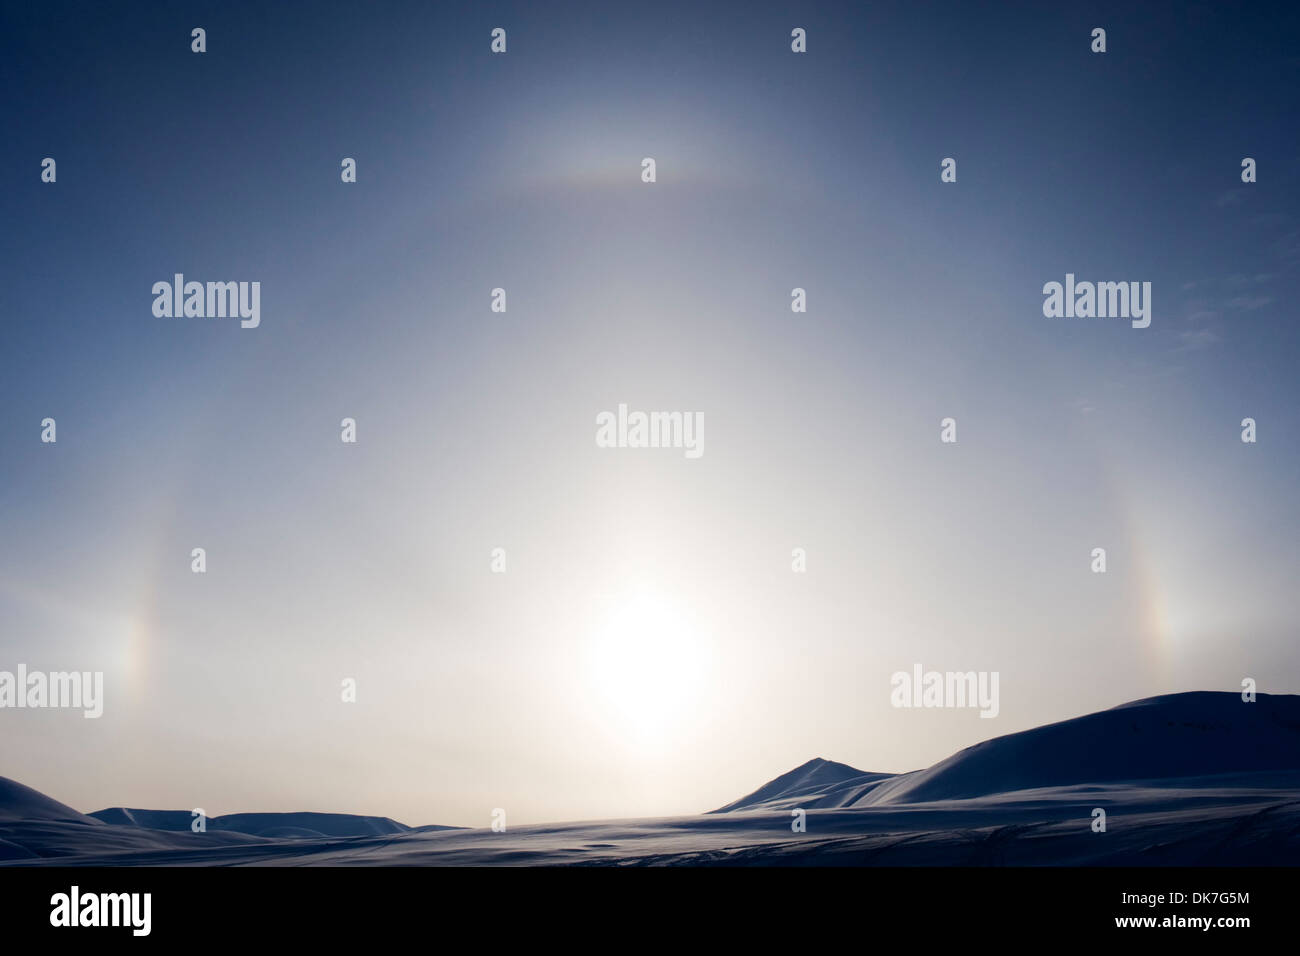
[[[640,589],[611,601],[597,620],[592,684],[604,719],[641,747],[689,732],[706,692],[706,636],[693,615]]]

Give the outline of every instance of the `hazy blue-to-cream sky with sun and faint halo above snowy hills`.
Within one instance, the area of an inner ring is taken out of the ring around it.
[[[1297,20],[9,5],[0,670],[105,701],[0,710],[0,774],[667,816],[1300,693]],[[260,282],[260,325],[155,316],[176,273]],[[1067,273],[1150,282],[1150,326],[1046,317]],[[599,447],[620,403],[703,454]],[[892,706],[918,663],[997,672],[997,717]]]

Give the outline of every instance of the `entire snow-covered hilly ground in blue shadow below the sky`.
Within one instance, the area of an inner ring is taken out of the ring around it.
[[[198,834],[190,825],[188,810],[87,816],[0,778],[0,865],[14,866],[1295,865],[1300,697],[1152,697],[905,774],[816,758],[686,817],[503,832],[335,813],[235,813]]]

